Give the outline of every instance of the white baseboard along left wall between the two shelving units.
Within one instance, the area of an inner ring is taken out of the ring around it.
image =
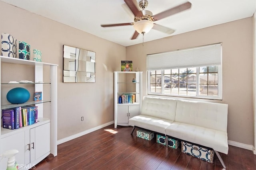
[[[63,139],[58,140],[58,141],[57,141],[57,145],[60,145],[60,144],[62,144],[62,143],[64,143],[64,142],[70,141],[70,140],[72,140],[72,139],[78,138],[78,137],[80,137],[80,136],[82,136],[82,135],[86,135],[86,134],[88,134],[88,133],[91,133],[91,132],[93,132],[93,131],[96,131],[96,130],[98,130],[98,129],[101,129],[101,128],[103,128],[103,127],[106,127],[106,126],[112,125],[112,124],[114,124],[114,121],[110,121],[110,122],[108,122],[108,123],[105,123],[105,124],[103,124],[103,125],[94,127],[94,128],[92,128],[92,129],[88,129],[88,130],[86,130],[86,131],[77,133],[77,134],[72,135],[72,136],[69,136],[69,137],[65,137],[65,138],[63,138]]]

